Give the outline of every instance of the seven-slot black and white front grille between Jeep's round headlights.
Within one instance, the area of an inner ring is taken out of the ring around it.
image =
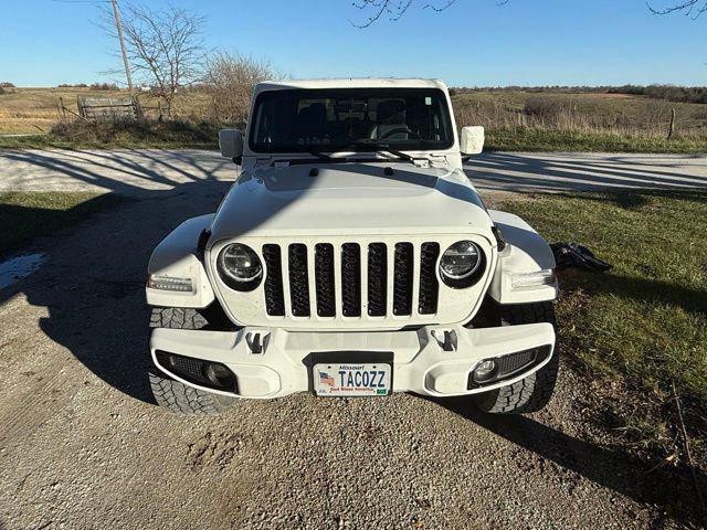
[[[271,317],[404,319],[413,310],[437,311],[439,243],[268,243],[262,251],[265,310]]]

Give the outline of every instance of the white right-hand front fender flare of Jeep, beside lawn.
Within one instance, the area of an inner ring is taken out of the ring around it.
[[[498,210],[488,210],[488,214],[506,241],[506,247],[498,253],[488,295],[498,304],[531,304],[556,299],[557,279],[552,285],[513,288],[515,274],[555,269],[555,255],[547,241],[518,215]]]

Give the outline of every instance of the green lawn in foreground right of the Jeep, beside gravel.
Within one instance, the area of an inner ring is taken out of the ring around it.
[[[707,231],[707,192],[536,195],[505,206],[549,241],[583,244],[614,265],[561,273],[558,319],[564,358],[603,380],[616,426],[641,444],[673,444],[675,383],[704,439],[707,242],[697,234]]]

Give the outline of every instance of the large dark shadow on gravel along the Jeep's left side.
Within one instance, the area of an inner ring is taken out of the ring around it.
[[[149,256],[184,219],[213,212],[228,188],[226,182],[182,184],[179,193],[157,192],[94,215],[56,250],[38,241],[28,251],[49,251],[45,262],[29,278],[0,290],[0,303],[23,294],[31,305],[45,308],[39,327],[46,337],[113,388],[154,403],[147,378]]]

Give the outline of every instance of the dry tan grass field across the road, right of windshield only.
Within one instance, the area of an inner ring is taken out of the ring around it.
[[[707,105],[624,94],[471,92],[452,98],[458,125],[483,125],[507,151],[707,152]],[[671,113],[675,131],[668,140]]]

